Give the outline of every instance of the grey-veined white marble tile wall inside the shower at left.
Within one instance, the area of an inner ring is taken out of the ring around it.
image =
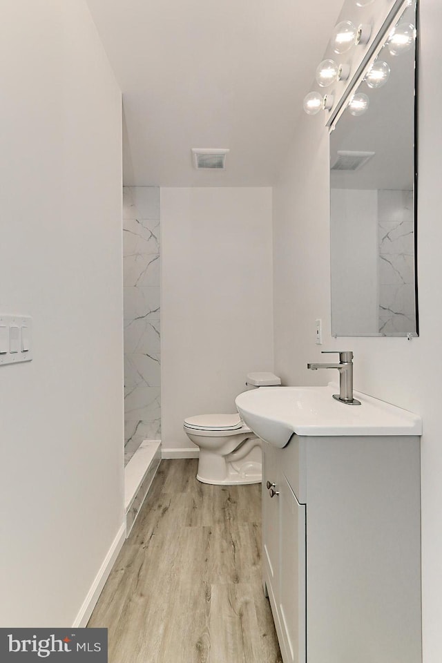
[[[126,463],[161,437],[160,189],[123,187],[124,443]]]

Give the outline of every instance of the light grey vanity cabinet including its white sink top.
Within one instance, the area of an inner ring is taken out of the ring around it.
[[[265,589],[284,663],[421,661],[419,416],[332,387],[236,404],[265,442]]]

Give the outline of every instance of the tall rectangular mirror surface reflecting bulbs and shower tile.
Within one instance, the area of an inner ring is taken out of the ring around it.
[[[330,135],[334,336],[418,332],[415,14],[390,31]]]

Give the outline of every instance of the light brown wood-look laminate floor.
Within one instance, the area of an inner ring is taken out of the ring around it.
[[[162,461],[88,626],[109,663],[281,663],[261,579],[260,484]]]

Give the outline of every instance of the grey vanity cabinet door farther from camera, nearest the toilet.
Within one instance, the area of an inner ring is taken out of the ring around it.
[[[263,442],[264,472],[262,473],[262,550],[264,566],[264,582],[267,585],[271,603],[278,605],[279,593],[279,495],[271,497],[267,481],[275,492],[279,490],[278,450]],[[273,607],[272,606],[272,607]]]

